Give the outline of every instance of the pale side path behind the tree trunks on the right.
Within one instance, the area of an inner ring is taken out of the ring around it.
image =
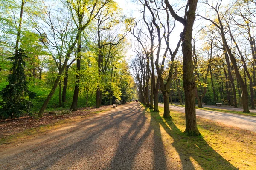
[[[170,105],[170,109],[185,113],[185,108],[181,106]],[[196,109],[196,116],[256,132],[256,117],[200,109]]]

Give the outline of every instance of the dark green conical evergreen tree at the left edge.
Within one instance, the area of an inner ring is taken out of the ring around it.
[[[19,49],[18,53],[10,57],[9,59],[13,61],[12,68],[15,70],[13,74],[9,74],[8,82],[9,84],[0,91],[3,101],[0,102],[0,118],[18,118],[23,116],[24,113],[29,112],[30,108],[33,106],[32,102],[28,100],[35,97],[35,93],[28,90],[26,75],[24,71],[26,54],[22,49]]]

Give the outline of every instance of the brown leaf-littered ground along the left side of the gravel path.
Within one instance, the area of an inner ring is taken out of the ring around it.
[[[35,127],[51,126],[53,124],[61,124],[67,122],[67,120],[81,118],[84,116],[90,116],[101,111],[105,111],[112,108],[112,106],[102,106],[100,108],[79,108],[78,111],[70,112],[68,110],[58,110],[44,113],[44,116],[40,119],[26,116],[18,119],[7,119],[0,121],[0,144],[11,143],[12,138],[19,137],[19,135],[30,135],[35,133]],[[37,130],[37,131],[45,131]],[[23,134],[20,134],[23,132]],[[18,135],[18,136],[17,136]]]

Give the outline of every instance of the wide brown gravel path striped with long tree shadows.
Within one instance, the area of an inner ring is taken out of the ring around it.
[[[156,134],[143,109],[135,102],[121,105],[1,150],[0,169],[182,169],[175,156],[166,153],[161,136]]]

